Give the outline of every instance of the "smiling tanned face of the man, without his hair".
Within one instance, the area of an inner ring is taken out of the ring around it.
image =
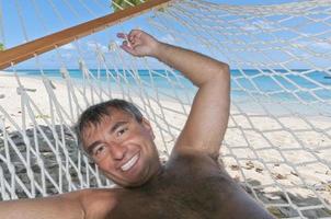
[[[83,128],[83,146],[103,173],[125,187],[146,183],[160,169],[150,124],[111,108],[98,126]]]

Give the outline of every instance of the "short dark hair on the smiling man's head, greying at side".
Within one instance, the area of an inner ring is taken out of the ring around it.
[[[133,103],[119,100],[119,99],[113,99],[106,102],[102,102],[95,105],[92,105],[88,107],[78,118],[77,124],[75,125],[75,131],[78,138],[78,145],[81,149],[82,147],[82,131],[83,129],[89,125],[98,126],[102,118],[104,116],[111,115],[111,108],[116,108],[119,111],[124,111],[138,122],[142,122],[142,114],[140,111],[135,106]],[[84,151],[84,150],[83,150]]]

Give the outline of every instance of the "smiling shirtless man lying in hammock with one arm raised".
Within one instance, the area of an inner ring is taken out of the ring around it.
[[[187,122],[161,165],[149,122],[125,101],[88,108],[77,129],[84,151],[119,187],[0,205],[0,218],[272,218],[218,162],[230,103],[228,65],[160,43],[138,30],[122,48],[178,69],[196,87]]]

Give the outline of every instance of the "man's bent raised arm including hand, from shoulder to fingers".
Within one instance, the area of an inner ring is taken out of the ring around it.
[[[219,154],[230,103],[230,74],[227,64],[202,54],[158,42],[142,31],[118,34],[122,48],[134,56],[151,56],[181,71],[198,91],[174,151],[198,150],[213,158]]]

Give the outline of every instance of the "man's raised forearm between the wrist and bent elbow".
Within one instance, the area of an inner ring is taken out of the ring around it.
[[[168,66],[181,71],[195,85],[213,81],[219,73],[228,72],[228,65],[185,48],[159,43],[153,56]],[[229,77],[224,73],[225,78]],[[227,81],[225,80],[225,83]]]

